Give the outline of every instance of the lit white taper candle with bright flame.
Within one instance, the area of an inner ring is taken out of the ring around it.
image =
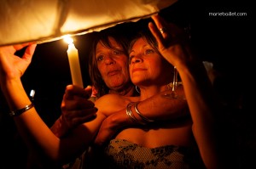
[[[71,38],[71,37],[69,37],[69,38]],[[80,64],[79,64],[78,49],[75,48],[72,38],[71,38],[71,40],[67,40],[67,42],[68,42],[67,57],[68,57],[68,61],[69,61],[73,85],[76,85],[79,87],[84,87],[82,75],[81,75]]]

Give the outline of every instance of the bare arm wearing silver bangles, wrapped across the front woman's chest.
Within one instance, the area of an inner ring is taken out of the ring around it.
[[[159,121],[172,122],[172,120],[189,115],[188,104],[185,99],[168,99],[167,97],[163,97],[165,93],[168,93],[168,91],[154,95],[137,104],[137,109],[143,116],[154,120],[154,122],[150,123]],[[184,95],[182,86],[177,88],[177,93]],[[131,111],[138,121],[143,121],[142,117],[137,115],[136,110],[134,110],[134,105],[131,107]],[[102,126],[96,136],[95,144],[104,144],[108,139],[113,138],[113,135],[119,132],[119,130],[125,127],[137,127],[138,125],[140,124],[136,121],[131,121],[129,116],[126,115],[126,109],[119,110],[109,115],[102,122]]]

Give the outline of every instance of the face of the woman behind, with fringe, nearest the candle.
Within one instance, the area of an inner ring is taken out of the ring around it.
[[[130,82],[128,56],[112,37],[109,37],[109,42],[113,48],[107,48],[102,42],[96,45],[97,68],[108,88],[119,90]]]

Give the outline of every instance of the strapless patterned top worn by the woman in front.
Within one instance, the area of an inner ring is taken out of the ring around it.
[[[93,150],[94,155],[84,159],[83,168],[111,169],[206,169],[197,149],[166,145],[146,148],[125,139],[112,139],[103,149]]]

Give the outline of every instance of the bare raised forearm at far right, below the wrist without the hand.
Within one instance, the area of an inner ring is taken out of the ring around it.
[[[213,93],[212,84],[201,63],[189,63],[180,69],[186,99],[193,120],[193,132],[199,145],[201,156],[207,168],[218,168],[220,155],[217,149],[216,125],[220,108]],[[218,161],[218,162],[217,162]],[[216,166],[214,166],[214,165]]]

